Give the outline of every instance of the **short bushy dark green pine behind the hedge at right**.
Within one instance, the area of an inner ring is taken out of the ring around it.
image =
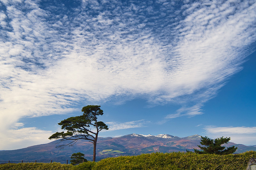
[[[237,147],[231,146],[225,149],[225,146],[221,146],[222,144],[227,144],[230,140],[230,137],[220,137],[216,139],[210,139],[208,137],[202,137],[200,144],[205,145],[206,147],[197,145],[202,151],[194,149],[195,153],[211,153],[218,155],[227,155],[236,152]],[[225,150],[224,150],[225,149]]]

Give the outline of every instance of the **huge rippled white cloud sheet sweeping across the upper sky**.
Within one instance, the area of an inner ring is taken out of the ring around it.
[[[256,40],[256,3],[248,1],[179,10],[157,2],[162,13],[118,2],[84,1],[68,13],[37,1],[2,2],[0,128],[7,130],[21,117],[68,113],[78,102],[137,96],[183,106],[166,118],[201,115]]]

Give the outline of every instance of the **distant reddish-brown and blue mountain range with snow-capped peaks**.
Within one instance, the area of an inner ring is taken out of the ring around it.
[[[84,153],[84,158],[92,160],[93,144],[87,140],[78,140],[73,146],[58,148],[60,144],[68,144],[69,141],[55,140],[48,144],[29,146],[23,149],[0,151],[0,161],[66,161],[70,160],[73,153]],[[186,152],[199,149],[201,136],[176,137],[168,134],[142,135],[129,134],[122,137],[99,137],[97,141],[96,160],[126,155],[139,155],[152,152]],[[236,146],[235,153],[256,151],[254,146],[235,144],[228,142],[223,146]],[[1,162],[0,162],[1,163]]]

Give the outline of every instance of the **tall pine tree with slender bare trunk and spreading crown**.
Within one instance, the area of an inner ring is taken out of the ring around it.
[[[81,116],[69,117],[58,123],[61,125],[61,129],[67,130],[67,132],[56,132],[49,139],[72,141],[59,147],[73,145],[78,139],[89,140],[93,143],[93,161],[95,161],[98,133],[102,129],[108,130],[108,126],[101,121],[97,121],[98,116],[103,115],[103,110],[100,109],[100,106],[88,105],[82,108],[82,112],[84,114]]]

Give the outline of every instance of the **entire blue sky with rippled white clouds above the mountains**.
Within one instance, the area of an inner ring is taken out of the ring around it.
[[[0,0],[0,150],[100,105],[132,133],[256,144],[256,2]]]

